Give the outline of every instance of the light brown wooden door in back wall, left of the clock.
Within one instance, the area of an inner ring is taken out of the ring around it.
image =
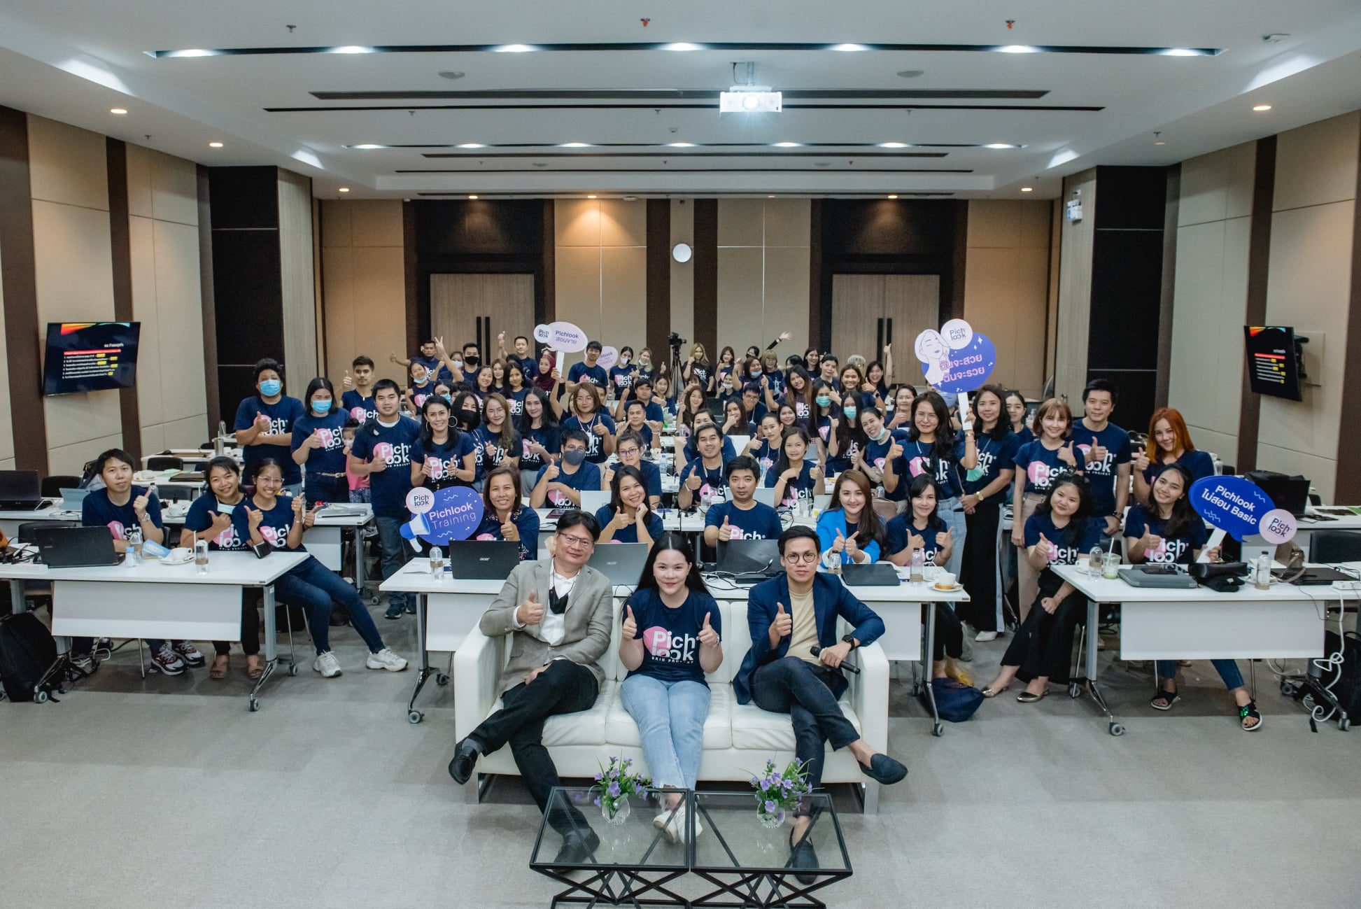
[[[485,362],[497,355],[497,335],[534,336],[534,275],[430,275],[430,331],[449,351],[470,340]]]

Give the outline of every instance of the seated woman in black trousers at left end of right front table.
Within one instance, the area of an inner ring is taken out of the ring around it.
[[[1104,521],[1093,516],[1092,490],[1081,476],[1064,474],[1025,523],[1025,558],[1040,573],[1038,592],[1002,657],[1002,671],[983,697],[1007,690],[1011,679],[1026,683],[1017,695],[1033,704],[1049,693],[1049,679],[1067,679],[1072,660],[1072,630],[1086,618],[1087,599],[1053,572],[1077,565],[1104,538]],[[1096,629],[1090,629],[1094,634]]]

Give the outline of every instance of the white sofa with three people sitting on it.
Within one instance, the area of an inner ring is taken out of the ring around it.
[[[619,701],[619,684],[627,670],[619,661],[618,634],[622,600],[614,606],[614,633],[602,657],[606,680],[595,706],[580,713],[551,717],[543,729],[558,773],[563,777],[592,777],[610,757],[629,757],[646,767],[638,740],[638,727]],[[723,665],[708,676],[712,699],[704,728],[704,759],[700,780],[750,780],[765,769],[768,758],[784,766],[793,758],[793,727],[785,713],[768,713],[755,704],[739,705],[732,676],[751,646],[747,633],[747,601],[719,600],[723,619]],[[841,629],[844,634],[848,629]],[[497,679],[509,655],[508,637],[487,638],[474,629],[453,657],[455,740],[472,732],[499,706]],[[857,649],[852,663],[860,674],[847,674],[851,684],[841,698],[841,710],[876,751],[889,744],[889,660],[878,644]],[[517,774],[510,748],[505,747],[478,761],[478,774]],[[878,810],[878,784],[864,777],[855,757],[845,748],[827,748],[823,782],[852,782],[863,787],[864,810]],[[467,785],[468,799],[480,795],[479,780]]]

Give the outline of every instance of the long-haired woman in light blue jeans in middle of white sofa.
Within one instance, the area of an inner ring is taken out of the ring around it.
[[[657,538],[623,604],[619,661],[629,670],[619,701],[638,724],[642,757],[657,789],[694,791],[709,716],[705,674],[723,664],[719,604],[700,577],[680,533]],[[645,637],[646,635],[646,637]],[[686,807],[667,793],[653,823],[672,842],[685,840]],[[704,827],[694,819],[694,833]]]

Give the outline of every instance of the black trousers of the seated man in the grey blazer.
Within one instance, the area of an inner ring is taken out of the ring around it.
[[[543,811],[553,787],[562,785],[558,767],[543,747],[543,724],[559,713],[589,710],[599,693],[600,686],[591,670],[572,660],[554,660],[529,684],[521,683],[506,691],[502,695],[505,706],[483,720],[471,735],[482,744],[483,754],[510,746],[520,776],[539,811]],[[585,818],[574,806],[566,806],[562,812],[548,816],[548,825],[566,836],[581,830]]]

